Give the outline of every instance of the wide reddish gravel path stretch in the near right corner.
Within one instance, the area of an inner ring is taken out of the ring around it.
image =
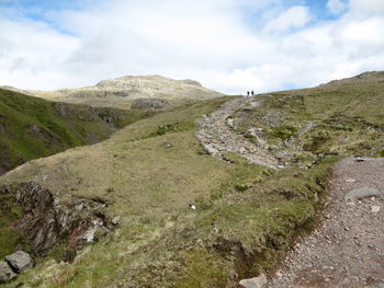
[[[336,165],[319,227],[268,287],[384,288],[384,159]]]

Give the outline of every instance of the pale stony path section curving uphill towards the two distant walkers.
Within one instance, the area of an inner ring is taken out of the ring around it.
[[[226,152],[235,152],[246,158],[253,164],[279,169],[279,163],[268,151],[247,140],[242,135],[233,129],[231,119],[228,118],[240,107],[259,105],[256,97],[240,97],[228,101],[210,115],[204,115],[199,120],[201,129],[196,137],[205,149],[218,159],[223,159]]]

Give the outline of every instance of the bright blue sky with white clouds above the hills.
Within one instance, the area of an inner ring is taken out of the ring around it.
[[[228,94],[384,70],[384,0],[0,0],[0,85],[122,76]]]

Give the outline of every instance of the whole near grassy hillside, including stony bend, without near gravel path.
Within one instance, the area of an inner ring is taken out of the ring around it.
[[[1,233],[12,237],[0,240],[8,253],[16,244],[34,253],[37,264],[4,287],[222,288],[272,274],[316,224],[334,164],[383,157],[383,73],[361,78],[173,106],[7,173]],[[268,161],[249,163],[250,151]],[[22,208],[12,199],[31,192],[57,204],[42,222],[64,227],[55,212],[74,215],[57,241],[48,226],[26,233],[18,224],[30,198]],[[90,231],[97,237],[87,244]]]

